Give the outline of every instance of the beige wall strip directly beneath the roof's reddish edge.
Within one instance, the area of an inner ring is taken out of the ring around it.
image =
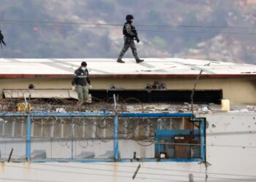
[[[144,89],[147,83],[165,82],[169,90],[192,90],[195,79],[91,79],[93,89],[108,89],[111,84],[124,89]],[[70,79],[0,79],[2,89],[71,89]],[[200,79],[198,90],[223,90],[232,105],[256,104],[256,79]]]

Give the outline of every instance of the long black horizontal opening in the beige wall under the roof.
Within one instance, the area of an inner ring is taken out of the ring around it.
[[[135,98],[142,103],[190,103],[191,90],[90,90],[93,98],[112,98],[113,94],[122,99]],[[222,90],[196,90],[194,103],[216,103],[222,100]],[[135,100],[129,100],[129,103]]]

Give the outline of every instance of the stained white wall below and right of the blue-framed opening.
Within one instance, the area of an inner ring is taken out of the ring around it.
[[[189,181],[189,175],[195,182],[256,181],[256,113],[229,112],[200,116],[207,120],[207,170],[206,165],[199,162],[11,162],[0,164],[0,181],[162,182]],[[127,146],[122,143],[120,147]],[[139,164],[138,175],[132,180]]]

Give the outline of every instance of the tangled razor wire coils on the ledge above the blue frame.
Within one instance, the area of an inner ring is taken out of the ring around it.
[[[133,102],[132,105],[129,103]],[[22,98],[5,98],[0,100],[0,112],[95,112],[95,113],[113,113],[115,111],[113,98],[97,99],[92,98],[91,103],[84,102],[78,105],[77,100],[69,100],[64,98],[35,98],[26,102]],[[118,98],[118,112],[143,112],[143,103],[135,98],[127,98],[126,100]]]

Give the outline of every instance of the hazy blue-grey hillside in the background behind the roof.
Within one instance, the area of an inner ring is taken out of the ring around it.
[[[254,0],[0,1],[0,58],[117,58],[130,13],[142,58],[256,63]]]

